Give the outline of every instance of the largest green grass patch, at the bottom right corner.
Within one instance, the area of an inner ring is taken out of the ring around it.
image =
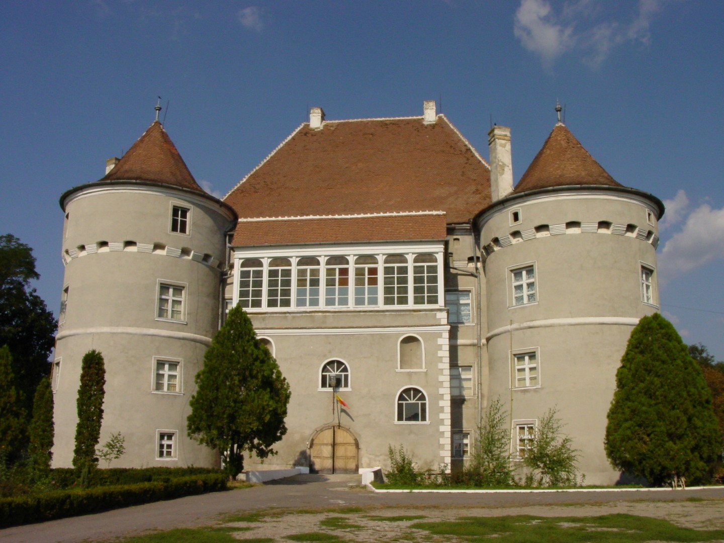
[[[412,529],[429,531],[438,536],[470,538],[471,542],[561,543],[594,542],[706,542],[724,539],[724,530],[694,530],[675,526],[669,521],[636,515],[601,515],[597,517],[463,517],[455,521],[415,523]]]

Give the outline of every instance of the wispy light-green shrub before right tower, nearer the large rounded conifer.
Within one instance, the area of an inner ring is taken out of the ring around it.
[[[523,464],[531,470],[530,479],[539,487],[578,483],[578,450],[573,448],[571,437],[562,434],[563,421],[555,415],[552,408],[540,418],[523,458]]]

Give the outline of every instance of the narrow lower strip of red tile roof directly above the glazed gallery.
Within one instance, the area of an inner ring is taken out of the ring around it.
[[[445,226],[442,213],[240,221],[232,245],[444,240]]]

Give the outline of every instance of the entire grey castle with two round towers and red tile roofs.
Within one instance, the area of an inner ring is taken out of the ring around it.
[[[101,443],[125,437],[112,466],[217,466],[185,421],[239,304],[292,391],[266,468],[356,472],[387,466],[388,445],[454,468],[500,398],[514,458],[555,407],[586,481],[618,479],[606,413],[628,336],[658,309],[664,207],[613,180],[560,117],[514,188],[507,127],[490,130],[487,162],[434,101],[387,119],[312,108],[222,200],[156,120],[60,203],[55,466],[72,461],[91,348],[106,361]]]

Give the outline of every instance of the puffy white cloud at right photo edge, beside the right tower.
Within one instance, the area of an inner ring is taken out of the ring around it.
[[[705,203],[694,209],[681,232],[665,243],[659,269],[662,277],[670,279],[717,258],[724,258],[724,209],[712,209]]]

